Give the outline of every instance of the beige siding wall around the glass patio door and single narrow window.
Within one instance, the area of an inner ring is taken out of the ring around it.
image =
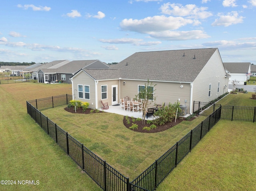
[[[101,86],[107,85],[107,98],[102,100],[104,103],[108,102],[108,105],[112,104],[112,85],[117,85],[117,91],[118,91],[118,103],[120,102],[119,98],[119,80],[108,80],[108,81],[99,81],[97,85],[97,93],[98,93],[98,108],[102,107],[101,100]]]

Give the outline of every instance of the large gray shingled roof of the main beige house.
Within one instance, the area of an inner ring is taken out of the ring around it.
[[[104,77],[98,75],[96,71],[88,71],[88,73],[97,80],[121,77],[193,82],[216,50],[217,48],[137,52],[120,63],[111,65],[111,68],[118,69],[118,72],[111,70],[100,72]]]

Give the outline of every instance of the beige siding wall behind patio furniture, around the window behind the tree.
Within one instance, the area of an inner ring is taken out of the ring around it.
[[[123,85],[123,82],[126,82]],[[131,81],[131,80],[121,80],[120,81],[120,89],[121,89],[121,98],[128,96],[131,100],[135,98],[135,95],[138,95],[138,85],[145,85],[147,81]],[[150,82],[151,83],[151,82]],[[149,84],[150,84],[149,83]],[[152,82],[154,87],[154,96],[156,96],[156,101],[151,103],[150,106],[154,106],[154,104],[162,104],[165,102],[165,105],[169,103],[178,102],[180,99],[181,105],[188,106],[188,111],[190,109],[190,84],[188,83],[170,83],[170,82]],[[183,88],[180,86],[183,85]],[[185,102],[185,100],[187,102]]]

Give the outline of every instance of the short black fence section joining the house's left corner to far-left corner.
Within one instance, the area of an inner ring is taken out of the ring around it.
[[[59,96],[52,96],[48,98],[30,100],[28,102],[36,109],[41,111],[44,109],[67,105],[70,100],[72,100],[72,95],[65,94]]]

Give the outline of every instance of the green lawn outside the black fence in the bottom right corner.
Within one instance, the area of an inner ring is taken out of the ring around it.
[[[256,128],[220,120],[157,191],[256,189]]]

